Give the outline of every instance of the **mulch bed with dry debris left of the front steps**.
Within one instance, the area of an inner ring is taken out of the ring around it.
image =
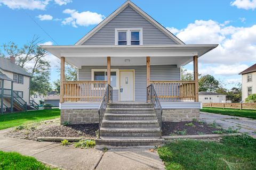
[[[99,124],[60,125],[59,118],[51,121],[31,124],[26,129],[13,131],[7,137],[36,140],[37,137],[96,137]]]

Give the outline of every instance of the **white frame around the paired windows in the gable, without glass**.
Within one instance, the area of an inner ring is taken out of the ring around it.
[[[143,29],[142,28],[115,28],[115,45],[118,46],[118,32],[124,32],[126,31],[126,46],[140,46],[143,45]],[[131,32],[132,31],[139,31],[140,36],[140,45],[131,45]],[[119,45],[119,46],[125,46],[125,45]]]

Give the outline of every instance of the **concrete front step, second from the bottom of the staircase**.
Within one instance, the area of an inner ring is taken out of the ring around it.
[[[101,137],[161,137],[160,128],[100,128]]]

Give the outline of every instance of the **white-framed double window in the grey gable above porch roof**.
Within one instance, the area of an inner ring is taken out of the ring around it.
[[[115,29],[115,45],[142,45],[142,28]]]

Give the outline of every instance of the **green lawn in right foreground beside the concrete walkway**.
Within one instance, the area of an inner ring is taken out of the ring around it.
[[[158,149],[166,169],[256,169],[256,139],[225,137],[220,143],[177,140]]]

